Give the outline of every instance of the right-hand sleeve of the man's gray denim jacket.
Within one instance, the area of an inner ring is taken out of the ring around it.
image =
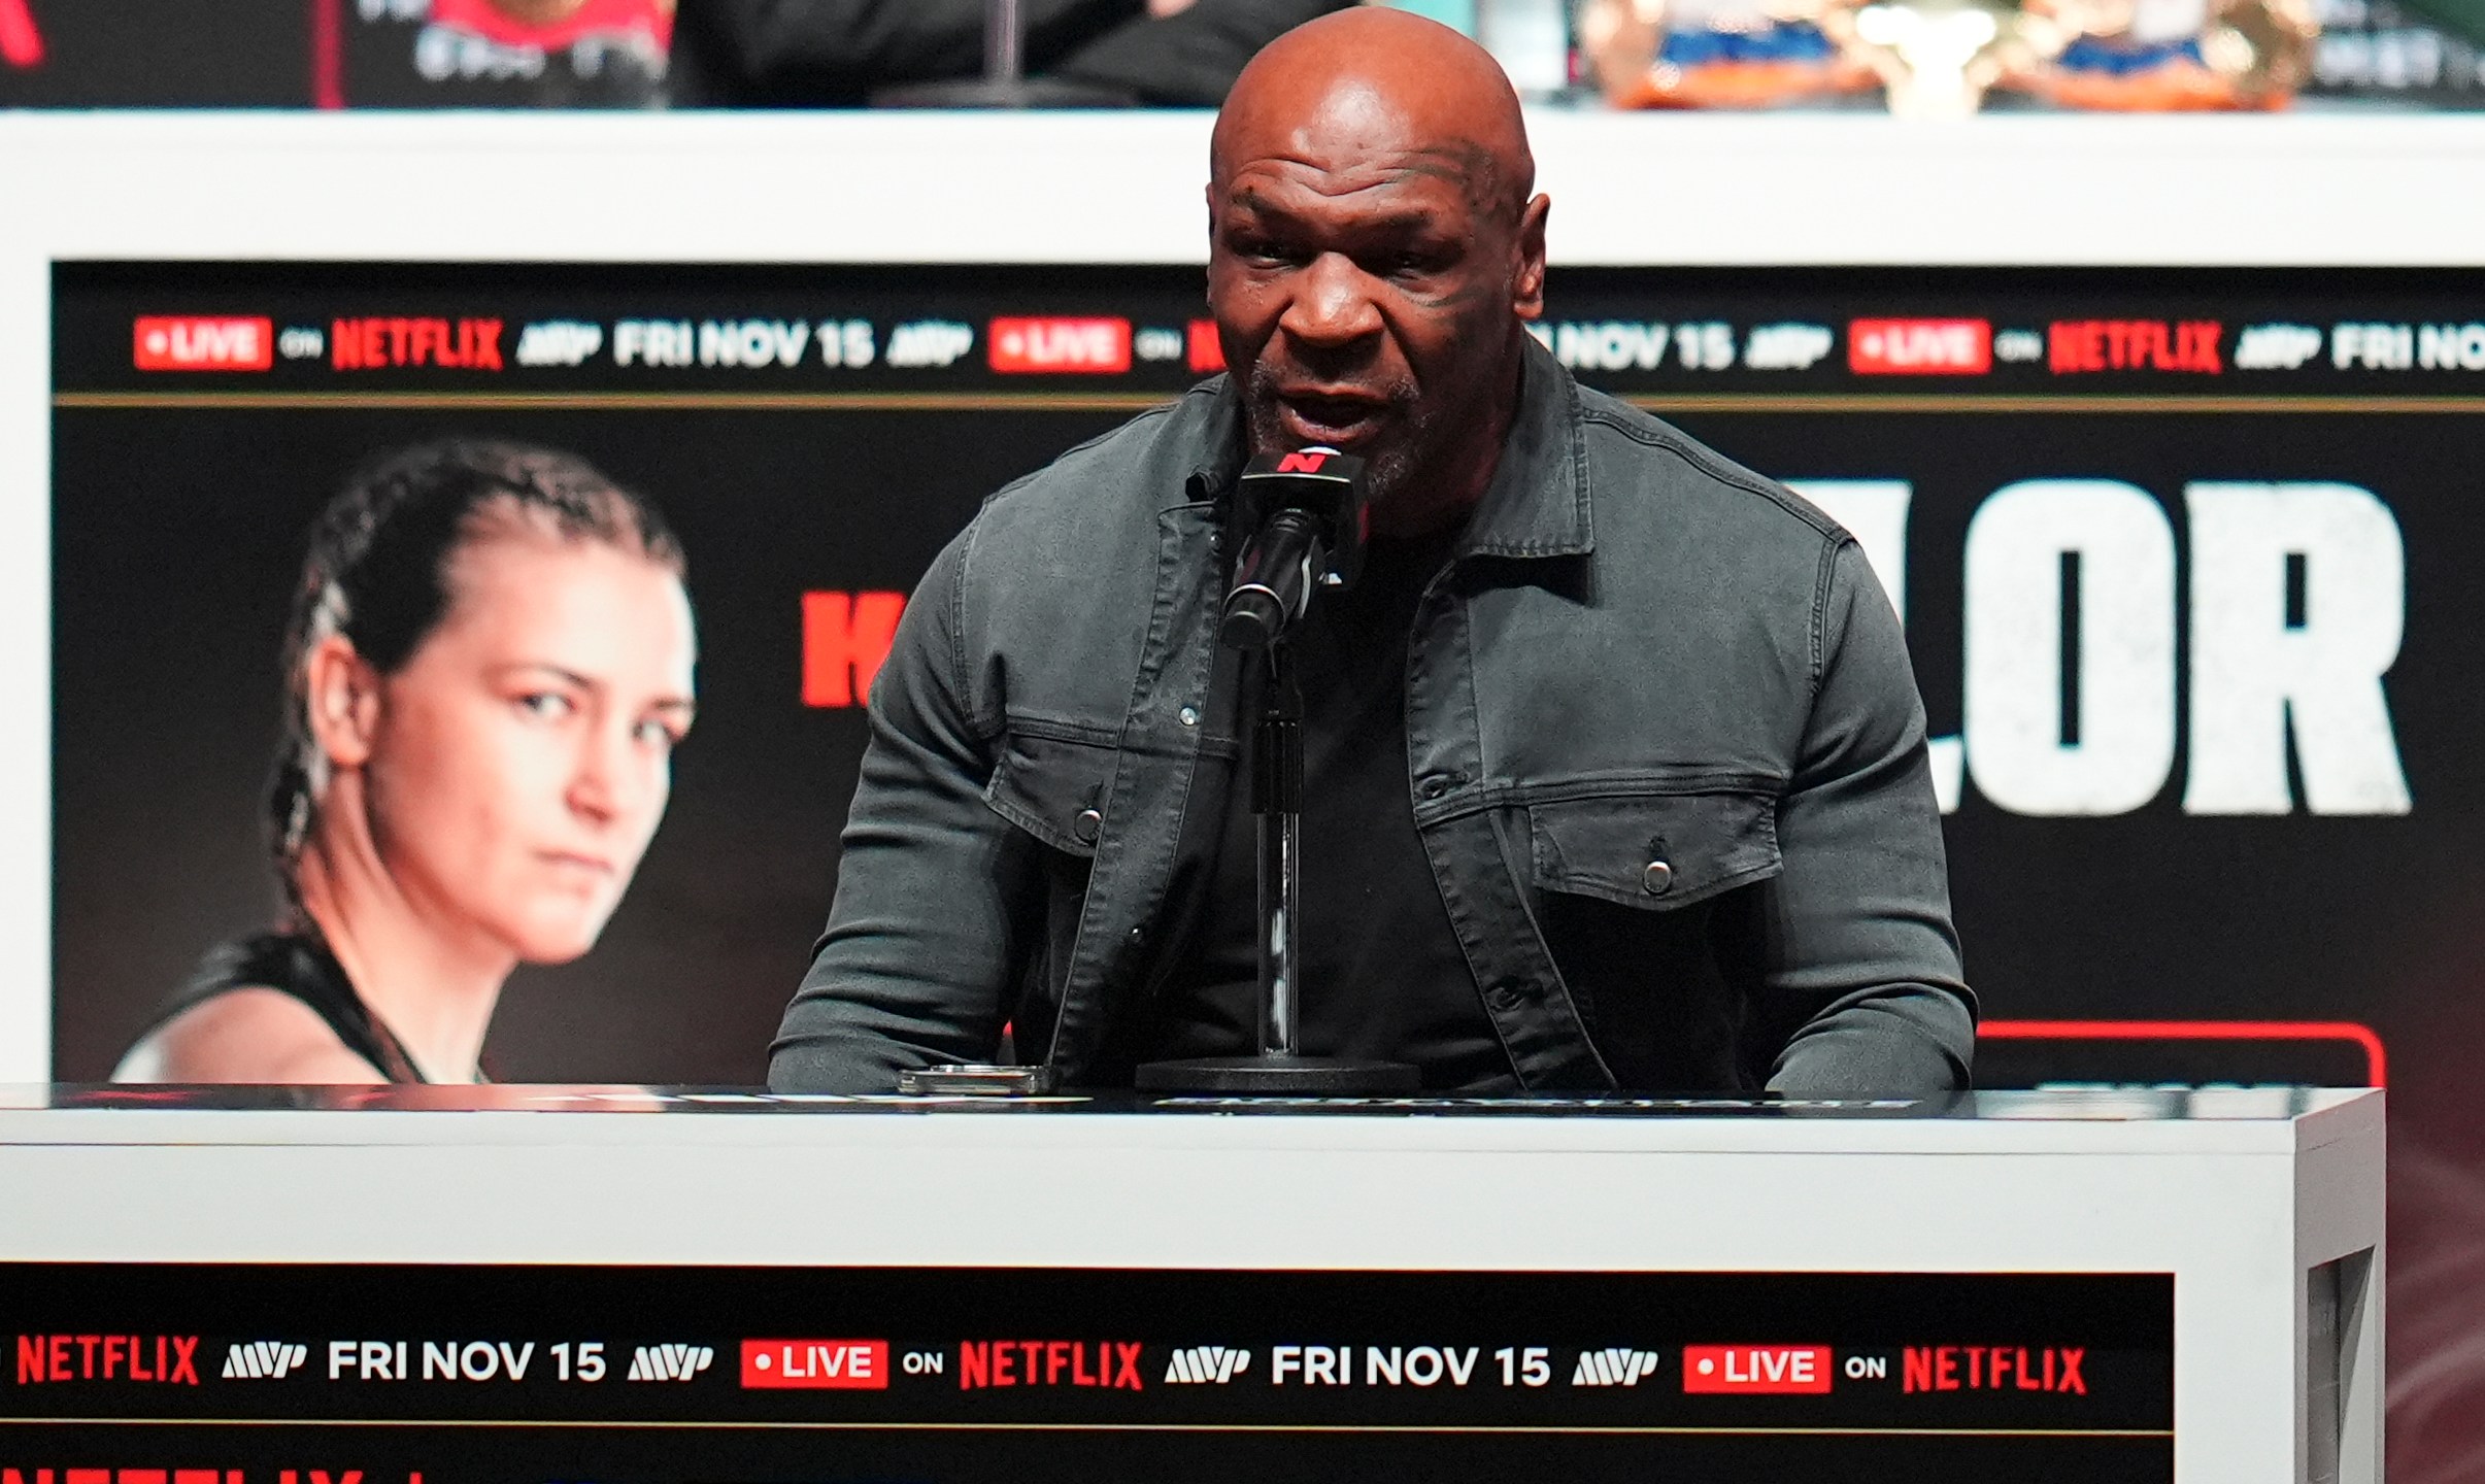
[[[1759,1009],[1784,1034],[1769,1089],[1891,1096],[1968,1086],[1976,997],[1958,967],[1923,701],[1899,614],[1841,542],[1819,686],[1762,890]]]

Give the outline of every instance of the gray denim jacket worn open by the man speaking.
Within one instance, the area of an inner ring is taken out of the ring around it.
[[[994,495],[872,684],[780,1091],[1128,1076],[1235,783],[1225,380]],[[1416,611],[1407,788],[1526,1091],[1966,1086],[1973,997],[1906,644],[1812,505],[1533,343]],[[1320,987],[1310,987],[1312,994]]]

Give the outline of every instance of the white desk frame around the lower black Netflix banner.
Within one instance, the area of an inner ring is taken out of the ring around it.
[[[2172,1273],[2177,1479],[2301,1479],[2304,1270],[2378,1258],[2383,1096],[2204,1096],[2182,1121],[2025,1094],[1981,1101],[2025,1121],[5,1109],[0,1260]],[[2368,1370],[2343,1482],[2378,1482],[2378,1417]]]

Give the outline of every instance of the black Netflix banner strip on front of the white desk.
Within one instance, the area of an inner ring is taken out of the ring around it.
[[[0,1303],[22,1484],[2174,1477],[2164,1273],[0,1263]]]

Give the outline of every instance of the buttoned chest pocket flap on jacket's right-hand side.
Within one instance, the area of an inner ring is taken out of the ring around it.
[[[1548,892],[1623,907],[1687,907],[1772,877],[1777,795],[1618,793],[1531,803],[1528,865]]]

